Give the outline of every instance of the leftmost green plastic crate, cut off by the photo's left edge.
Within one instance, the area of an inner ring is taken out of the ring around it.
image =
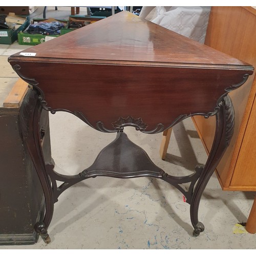
[[[17,29],[0,29],[0,44],[11,45],[18,38],[18,33],[29,26],[29,19]]]

